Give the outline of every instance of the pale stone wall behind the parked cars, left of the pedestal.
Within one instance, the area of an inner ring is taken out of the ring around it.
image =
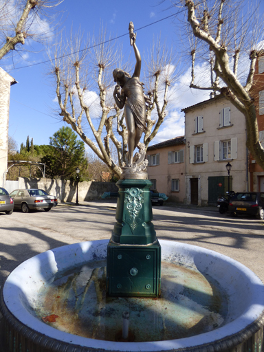
[[[56,195],[59,202],[76,201],[76,181],[19,177],[19,188],[41,188],[50,195]],[[78,201],[101,199],[104,192],[118,192],[118,187],[113,182],[79,182]]]

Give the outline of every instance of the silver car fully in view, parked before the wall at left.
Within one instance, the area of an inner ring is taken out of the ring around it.
[[[33,209],[44,209],[48,212],[58,204],[54,195],[49,195],[45,190],[34,188],[13,190],[10,196],[14,199],[14,209],[21,209],[22,212],[29,212]]]

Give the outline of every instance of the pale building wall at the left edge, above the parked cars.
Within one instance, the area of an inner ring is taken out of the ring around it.
[[[0,185],[4,185],[5,171],[8,168],[8,123],[10,86],[17,83],[0,67]]]

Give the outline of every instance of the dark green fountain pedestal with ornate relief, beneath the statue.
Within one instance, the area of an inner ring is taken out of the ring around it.
[[[154,230],[151,181],[118,181],[117,220],[107,246],[108,296],[159,297],[161,247]]]

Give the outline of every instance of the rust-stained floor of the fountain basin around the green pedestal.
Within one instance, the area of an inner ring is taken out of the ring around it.
[[[106,296],[106,263],[87,263],[65,272],[39,292],[36,315],[58,316],[50,326],[86,338],[115,341],[122,312],[129,311],[135,342],[174,340],[217,329],[228,300],[217,281],[195,267],[162,261],[162,297]]]

